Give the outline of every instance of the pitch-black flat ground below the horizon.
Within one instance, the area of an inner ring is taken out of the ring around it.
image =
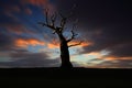
[[[132,87],[132,69],[11,68],[0,69],[0,85],[44,88]]]

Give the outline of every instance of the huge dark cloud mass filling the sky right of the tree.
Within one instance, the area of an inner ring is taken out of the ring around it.
[[[132,6],[128,0],[65,0],[58,1],[58,9],[70,11],[79,19],[81,38],[94,42],[82,53],[110,51],[114,56],[132,56]],[[65,13],[64,13],[65,14]]]

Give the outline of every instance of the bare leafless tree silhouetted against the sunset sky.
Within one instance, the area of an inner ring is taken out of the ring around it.
[[[59,15],[61,20],[57,19],[58,15]],[[61,67],[72,68],[73,65],[69,59],[69,50],[68,48],[72,46],[80,45],[81,42],[79,42],[77,44],[68,45],[68,43],[72,42],[78,34],[76,34],[74,32],[75,25],[73,25],[73,29],[70,31],[72,36],[70,36],[70,38],[66,38],[63,33],[64,33],[66,23],[72,14],[68,16],[64,16],[62,13],[59,13],[58,15],[56,13],[53,13],[51,15],[48,12],[48,9],[45,9],[45,22],[38,22],[38,24],[51,29],[53,31],[53,34],[58,35],[59,47],[61,47],[61,59],[62,59]],[[58,21],[57,23],[59,23],[58,25],[56,24],[56,20]]]

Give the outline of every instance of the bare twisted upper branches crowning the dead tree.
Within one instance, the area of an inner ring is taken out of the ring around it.
[[[45,10],[45,22],[38,22],[38,24],[53,30],[53,34],[63,33],[63,30],[65,29],[67,20],[73,15],[73,12],[70,12],[68,16],[64,16],[62,13],[58,13],[61,15],[61,20],[59,20],[59,25],[57,26],[57,24],[55,24],[56,19],[57,19],[57,14],[54,13],[54,14],[51,15],[48,13],[48,11],[50,11],[48,9],[44,9],[44,10]],[[72,41],[77,35],[73,31],[72,31],[72,34],[73,34],[72,38],[69,38],[68,41]]]

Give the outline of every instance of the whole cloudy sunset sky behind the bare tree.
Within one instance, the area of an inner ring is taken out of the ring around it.
[[[69,43],[84,41],[69,48],[75,67],[132,68],[131,4],[129,0],[0,0],[0,68],[61,65],[57,35],[37,24],[45,21],[46,8],[51,15],[73,13],[66,38],[78,20],[78,36]]]

